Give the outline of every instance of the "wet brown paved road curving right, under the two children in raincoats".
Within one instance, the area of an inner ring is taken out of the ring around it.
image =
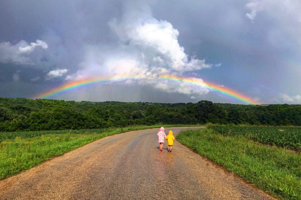
[[[177,141],[160,151],[158,131],[102,138],[1,180],[0,199],[273,199]]]

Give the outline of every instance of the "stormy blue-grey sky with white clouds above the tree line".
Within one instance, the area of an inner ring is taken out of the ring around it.
[[[301,104],[301,2],[0,0],[0,97]],[[119,79],[118,77],[127,77]]]

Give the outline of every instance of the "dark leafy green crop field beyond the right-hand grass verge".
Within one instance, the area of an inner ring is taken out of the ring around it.
[[[301,128],[292,126],[209,126],[226,136],[242,135],[262,144],[301,150]]]

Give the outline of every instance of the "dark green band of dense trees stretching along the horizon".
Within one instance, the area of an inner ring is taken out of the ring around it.
[[[97,129],[155,124],[301,126],[299,105],[74,102],[1,98],[0,132]]]

